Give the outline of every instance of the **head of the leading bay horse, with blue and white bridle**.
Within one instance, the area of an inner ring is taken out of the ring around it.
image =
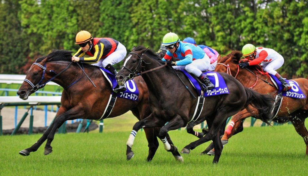
[[[51,76],[48,75],[48,73],[51,73],[52,75],[56,76],[58,75],[55,71],[53,71],[53,68],[47,69],[46,65],[48,61],[70,61],[71,57],[71,51],[56,50],[51,52],[47,56],[36,59],[36,61],[26,72],[26,79],[24,80],[17,92],[19,98],[23,100],[28,99],[28,97],[32,93],[39,90],[40,88],[43,88],[47,82],[55,78],[54,76],[52,79],[50,79]]]

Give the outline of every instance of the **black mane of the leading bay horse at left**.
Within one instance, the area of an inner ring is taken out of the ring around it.
[[[71,62],[72,51],[66,50],[55,50],[49,53],[47,56],[39,57],[36,59],[36,63],[41,62],[43,59],[47,57],[47,62],[51,61],[69,61]]]

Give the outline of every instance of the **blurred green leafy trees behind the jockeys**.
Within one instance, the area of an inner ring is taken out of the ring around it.
[[[221,55],[252,43],[285,58],[284,77],[308,76],[306,0],[2,0],[0,17],[0,74],[24,74],[55,49],[77,51],[75,35],[86,30],[128,51],[157,51],[170,31]]]

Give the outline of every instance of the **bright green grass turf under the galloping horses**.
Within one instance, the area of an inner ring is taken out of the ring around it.
[[[41,134],[1,136],[0,175],[307,175],[306,146],[292,125],[244,128],[229,140],[215,165],[213,156],[199,155],[209,142],[182,154],[184,163],[179,163],[160,141],[154,159],[146,162],[144,131],[136,135],[135,156],[126,161],[129,133],[106,129],[104,133],[56,134],[50,155],[43,155],[44,143],[28,157],[18,152]],[[169,134],[179,150],[197,140],[185,130]]]

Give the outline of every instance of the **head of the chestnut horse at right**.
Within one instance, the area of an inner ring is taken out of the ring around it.
[[[214,71],[228,73],[230,70],[238,69],[237,64],[239,63],[241,57],[241,51],[232,51],[230,54],[217,60],[217,65]]]

